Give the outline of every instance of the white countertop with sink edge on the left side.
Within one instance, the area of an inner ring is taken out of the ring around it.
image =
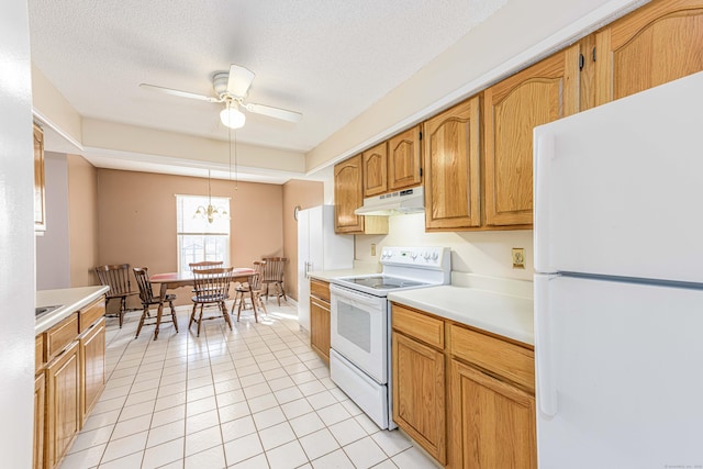
[[[63,306],[37,319],[34,324],[34,333],[38,335],[52,328],[54,325],[68,317],[70,313],[87,306],[102,297],[108,290],[110,290],[110,287],[97,286],[37,291],[37,308],[53,306],[56,304],[62,304]]]

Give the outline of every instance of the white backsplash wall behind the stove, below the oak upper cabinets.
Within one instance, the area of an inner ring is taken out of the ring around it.
[[[534,273],[532,230],[425,233],[425,214],[414,213],[390,216],[387,235],[355,238],[359,261],[378,261],[383,246],[447,246],[451,248],[453,271],[521,280],[532,280]],[[524,269],[513,268],[513,247],[525,249]]]

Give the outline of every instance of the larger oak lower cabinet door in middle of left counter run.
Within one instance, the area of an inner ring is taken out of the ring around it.
[[[71,343],[46,368],[46,466],[64,457],[80,429],[80,364],[78,342]]]

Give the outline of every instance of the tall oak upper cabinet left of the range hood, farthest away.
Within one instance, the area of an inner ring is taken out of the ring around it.
[[[354,211],[361,206],[361,155],[353,156],[334,167],[334,214],[336,233],[364,232],[364,216]]]

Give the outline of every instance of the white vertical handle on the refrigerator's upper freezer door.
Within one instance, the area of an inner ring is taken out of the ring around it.
[[[534,194],[535,194],[535,270],[538,272],[555,271],[550,266],[549,236],[550,213],[549,213],[549,172],[551,160],[556,158],[555,137],[539,127],[535,129],[534,149]],[[537,209],[539,208],[539,209]]]

